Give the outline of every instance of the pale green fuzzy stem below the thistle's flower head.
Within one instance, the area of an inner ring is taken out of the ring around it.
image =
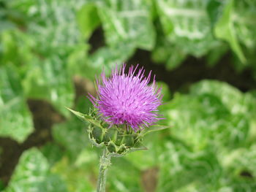
[[[99,160],[99,177],[97,183],[97,192],[105,192],[106,187],[106,179],[107,179],[107,171],[110,166],[110,155],[108,150],[104,149],[102,156]]]

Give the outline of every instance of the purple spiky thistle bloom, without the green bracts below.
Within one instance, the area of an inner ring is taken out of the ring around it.
[[[103,72],[101,80],[97,80],[97,99],[91,97],[91,102],[99,110],[102,118],[110,125],[127,125],[134,131],[148,127],[159,118],[157,107],[162,104],[161,89],[157,87],[155,78],[151,85],[144,75],[143,68],[135,74],[138,65],[129,68],[124,73],[125,65],[112,71],[110,77]]]

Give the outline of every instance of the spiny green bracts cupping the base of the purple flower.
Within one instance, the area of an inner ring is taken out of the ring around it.
[[[70,110],[69,108],[67,108]],[[110,126],[97,117],[95,112],[90,112],[89,115],[81,112],[70,110],[80,120],[88,123],[87,131],[91,143],[97,147],[106,147],[112,155],[124,155],[136,150],[146,150],[146,147],[141,143],[143,136],[151,131],[159,131],[167,126],[151,126],[148,131],[131,131],[132,129],[123,126]]]

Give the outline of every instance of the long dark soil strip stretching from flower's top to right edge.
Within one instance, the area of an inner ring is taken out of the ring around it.
[[[215,66],[207,66],[205,58],[188,57],[183,64],[172,71],[167,71],[164,64],[155,64],[151,61],[151,53],[146,50],[137,50],[129,59],[128,64],[142,64],[146,66],[146,72],[150,70],[156,74],[159,81],[167,83],[170,91],[181,91],[189,88],[200,80],[219,80],[246,92],[256,88],[256,80],[252,76],[251,69],[237,72],[231,64],[231,53],[227,53]]]

